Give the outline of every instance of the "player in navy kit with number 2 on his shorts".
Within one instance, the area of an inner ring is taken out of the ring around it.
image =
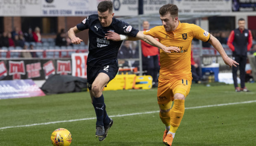
[[[105,34],[109,31],[116,32],[121,34],[121,40],[128,39],[127,36],[129,36],[129,39],[142,39],[163,49],[165,52],[171,52],[171,50],[178,52],[179,48],[166,47],[153,37],[144,35],[139,30],[134,29],[128,23],[113,18],[113,3],[111,1],[100,2],[97,9],[98,14],[92,14],[75,27],[70,28],[68,35],[73,44],[80,44],[83,40],[76,37],[75,34],[89,29],[87,82],[97,117],[95,136],[102,141],[107,137],[107,132],[113,124],[113,120],[109,118],[106,112],[102,89],[116,76],[119,70],[117,53],[122,43],[122,41],[108,40]]]

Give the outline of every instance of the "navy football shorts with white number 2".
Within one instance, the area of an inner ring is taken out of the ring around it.
[[[88,89],[92,89],[92,82],[99,73],[106,73],[109,76],[109,81],[115,78],[119,67],[116,65],[107,65],[101,67],[87,66],[87,84]]]

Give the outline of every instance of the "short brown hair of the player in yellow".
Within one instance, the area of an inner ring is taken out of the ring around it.
[[[161,16],[164,16],[164,15],[170,13],[172,17],[178,17],[178,11],[179,11],[179,9],[178,9],[177,5],[166,4],[166,5],[163,5],[159,9],[159,14]]]

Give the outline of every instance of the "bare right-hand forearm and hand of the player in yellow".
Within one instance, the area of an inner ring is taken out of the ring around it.
[[[228,57],[228,55],[224,51],[223,47],[221,46],[220,41],[218,41],[218,39],[216,39],[216,37],[211,35],[209,43],[211,43],[211,45],[220,53],[225,64],[227,64],[230,67],[232,67],[232,66],[237,67],[237,65],[239,65],[235,60]]]

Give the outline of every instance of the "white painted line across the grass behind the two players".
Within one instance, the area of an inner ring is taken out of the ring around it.
[[[223,103],[223,104],[218,104],[218,105],[204,105],[204,106],[197,106],[197,107],[186,107],[185,110],[199,109],[199,108],[205,108],[205,107],[219,107],[219,106],[225,106],[225,105],[238,105],[238,104],[245,104],[245,103],[256,103],[256,100],[237,102],[237,103]],[[152,113],[156,113],[156,112],[159,112],[159,110],[158,111],[152,111],[152,112],[137,112],[137,113],[132,113],[132,114],[119,114],[119,115],[114,115],[114,116],[109,116],[109,117],[112,118],[112,117],[133,116],[133,115],[140,115],[140,114],[152,114]],[[92,120],[92,119],[96,119],[96,117],[83,118],[83,119],[74,119],[74,120],[65,120],[65,121],[54,121],[54,122],[46,122],[46,123],[36,123],[36,124],[29,124],[29,125],[7,126],[7,127],[1,127],[0,130],[8,129],[8,128],[31,127],[31,126],[36,126],[36,125],[49,125],[49,124],[56,124],[56,123],[85,121],[85,120]]]

